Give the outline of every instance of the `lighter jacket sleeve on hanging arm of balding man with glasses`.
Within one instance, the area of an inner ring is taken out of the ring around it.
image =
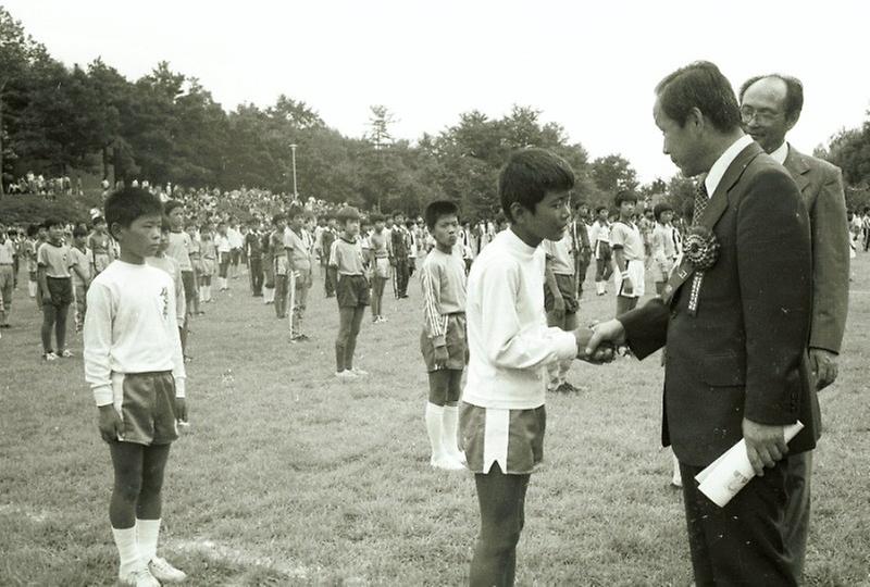
[[[849,226],[840,170],[828,173],[810,216],[812,321],[809,346],[840,352],[849,302]]]

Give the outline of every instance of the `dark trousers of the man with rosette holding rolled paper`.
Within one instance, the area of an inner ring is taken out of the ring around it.
[[[704,467],[680,463],[697,587],[797,585],[784,538],[791,459],[766,469],[724,508],[698,491],[695,475]]]

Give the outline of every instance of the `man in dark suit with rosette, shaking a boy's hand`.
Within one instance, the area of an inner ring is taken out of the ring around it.
[[[704,265],[687,237],[663,298],[596,326],[587,352],[625,341],[643,359],[667,344],[662,441],[680,461],[696,584],[796,585],[782,524],[787,465],[820,427],[806,352],[807,211],[788,172],[744,135],[716,65],[678,70],[656,95],[664,153],[684,175],[706,174],[693,225],[719,251]],[[784,427],[797,420],[805,428],[786,447]],[[757,476],[719,508],[695,475],[741,438]]]

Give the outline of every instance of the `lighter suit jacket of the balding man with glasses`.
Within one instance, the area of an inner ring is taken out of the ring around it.
[[[812,319],[809,346],[840,352],[849,303],[849,225],[840,167],[791,145],[785,168],[809,212],[812,228]]]

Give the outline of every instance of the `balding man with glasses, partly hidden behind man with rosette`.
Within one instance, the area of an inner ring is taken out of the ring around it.
[[[739,91],[743,127],[800,189],[812,227],[812,313],[809,362],[816,388],[836,379],[849,290],[849,226],[840,167],[800,153],[785,140],[804,107],[800,80],[779,74],[748,79]],[[785,516],[786,544],[799,577],[809,529],[812,452],[790,459],[794,484]]]

